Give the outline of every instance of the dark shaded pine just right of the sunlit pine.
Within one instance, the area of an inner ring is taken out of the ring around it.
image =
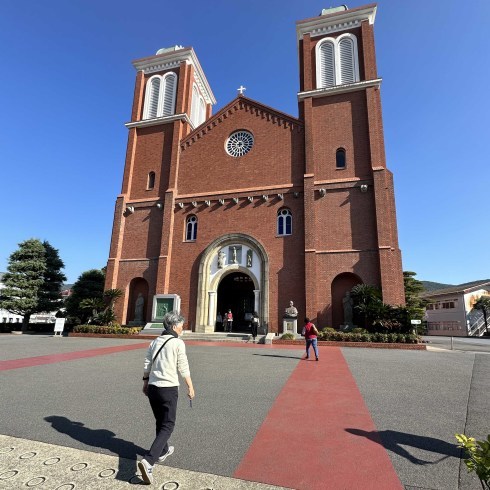
[[[61,287],[66,281],[66,276],[61,269],[65,264],[59,257],[56,250],[49,242],[44,241],[46,257],[46,270],[44,272],[44,281],[39,294],[38,311],[50,312],[59,310],[63,306],[61,297]]]

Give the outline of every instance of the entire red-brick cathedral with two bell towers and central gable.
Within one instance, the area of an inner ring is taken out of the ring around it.
[[[213,115],[192,48],[133,63],[106,279],[124,291],[120,322],[151,323],[180,306],[187,328],[213,332],[231,309],[234,329],[256,311],[281,332],[292,300],[298,328],[305,315],[337,328],[346,292],[361,283],[404,303],[375,15],[374,4],[338,7],[297,23],[297,118],[242,87]]]

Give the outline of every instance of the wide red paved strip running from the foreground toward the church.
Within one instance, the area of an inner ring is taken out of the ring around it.
[[[233,476],[298,490],[403,488],[337,347],[298,363]]]

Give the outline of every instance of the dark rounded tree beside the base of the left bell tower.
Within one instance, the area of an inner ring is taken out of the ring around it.
[[[65,300],[67,316],[77,323],[85,323],[93,313],[93,305],[83,300],[103,300],[105,275],[100,269],[83,272],[72,287],[72,294]]]

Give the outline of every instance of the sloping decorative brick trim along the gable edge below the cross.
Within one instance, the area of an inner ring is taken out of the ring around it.
[[[289,128],[290,130],[303,131],[304,129],[303,122],[300,119],[272,109],[271,107],[261,104],[256,100],[249,99],[244,95],[239,95],[225,107],[220,109],[214,116],[204,121],[194,131],[183,138],[180,142],[181,149],[185,150],[238,111],[247,111],[256,114],[258,117],[270,121],[272,125]]]

